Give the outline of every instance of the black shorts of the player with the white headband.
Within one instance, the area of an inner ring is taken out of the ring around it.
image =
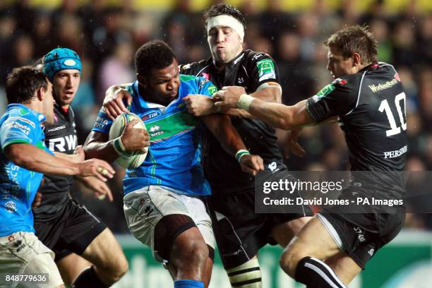
[[[246,263],[266,244],[277,244],[271,236],[275,225],[313,215],[308,208],[306,214],[257,214],[254,191],[222,197],[210,196],[205,199],[205,203],[212,218],[217,248],[225,269]]]

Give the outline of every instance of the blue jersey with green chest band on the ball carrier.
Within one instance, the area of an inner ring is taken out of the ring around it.
[[[210,195],[200,164],[200,121],[188,113],[183,98],[190,94],[210,97],[217,91],[215,85],[205,78],[181,75],[178,96],[167,107],[145,102],[139,95],[138,81],[127,89],[133,95],[129,110],[143,120],[150,147],[140,167],[126,170],[125,195],[149,185],[167,186],[191,196]],[[102,108],[92,131],[109,133],[111,125]]]

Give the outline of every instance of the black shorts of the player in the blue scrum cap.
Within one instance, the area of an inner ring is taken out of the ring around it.
[[[37,238],[56,253],[56,261],[71,253],[81,255],[105,228],[104,223],[71,198],[56,217],[35,220]]]

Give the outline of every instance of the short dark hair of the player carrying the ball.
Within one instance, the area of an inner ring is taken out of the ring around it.
[[[153,68],[162,69],[176,59],[174,51],[161,40],[153,40],[141,46],[135,54],[136,73],[150,78]]]

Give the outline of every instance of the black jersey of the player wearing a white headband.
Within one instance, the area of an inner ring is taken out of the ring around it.
[[[221,89],[223,86],[243,86],[248,94],[266,82],[279,83],[275,61],[268,54],[245,50],[218,72],[212,57],[192,64],[180,66],[180,73],[211,80]],[[260,155],[265,169],[274,171],[283,166],[283,157],[277,147],[275,130],[256,119],[231,116],[233,126],[239,131],[248,150]],[[203,137],[203,166],[205,177],[212,186],[213,195],[253,191],[254,177],[241,171],[239,163],[227,154],[217,139],[205,129]]]

